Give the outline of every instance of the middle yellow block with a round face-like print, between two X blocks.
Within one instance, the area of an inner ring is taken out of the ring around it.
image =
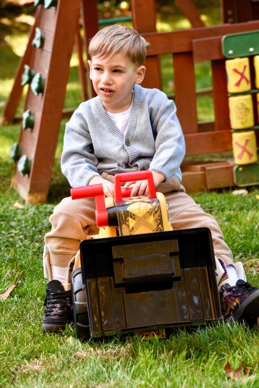
[[[230,125],[232,129],[245,129],[254,126],[254,111],[250,94],[229,97]]]

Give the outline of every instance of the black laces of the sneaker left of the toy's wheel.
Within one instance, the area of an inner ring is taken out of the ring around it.
[[[51,289],[47,288],[47,295],[44,303],[46,306],[45,315],[67,316],[71,314],[71,291],[57,291],[55,293],[51,291]]]

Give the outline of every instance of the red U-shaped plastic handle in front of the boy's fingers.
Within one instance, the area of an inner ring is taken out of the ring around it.
[[[151,171],[134,171],[134,172],[124,172],[121,174],[116,174],[114,176],[114,189],[115,189],[115,202],[122,201],[121,193],[121,183],[130,182],[131,180],[148,180],[148,197],[156,198],[155,193],[155,184]]]

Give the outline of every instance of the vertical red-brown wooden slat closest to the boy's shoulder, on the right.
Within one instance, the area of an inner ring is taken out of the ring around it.
[[[198,132],[192,52],[174,54],[173,63],[177,116],[183,128],[183,133]]]

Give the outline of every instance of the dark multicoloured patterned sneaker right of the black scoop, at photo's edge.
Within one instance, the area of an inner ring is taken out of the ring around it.
[[[244,320],[249,327],[259,318],[259,288],[238,280],[235,286],[225,283],[219,290],[224,320]]]

